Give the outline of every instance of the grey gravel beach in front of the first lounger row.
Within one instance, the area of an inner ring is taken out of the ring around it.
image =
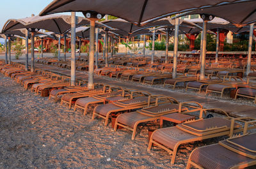
[[[227,138],[184,144],[171,165],[163,149],[147,152],[156,124],[140,126],[131,140],[131,131],[92,120],[92,110],[68,110],[0,75],[0,168],[186,168],[193,149]]]

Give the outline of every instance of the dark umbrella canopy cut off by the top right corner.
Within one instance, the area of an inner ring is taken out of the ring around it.
[[[256,22],[256,1],[241,0],[236,3],[225,3],[223,5],[209,6],[200,10],[191,11],[186,15],[209,14],[224,18],[239,26]]]

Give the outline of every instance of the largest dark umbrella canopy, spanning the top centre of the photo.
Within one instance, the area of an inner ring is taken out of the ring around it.
[[[54,0],[40,16],[63,11],[96,11],[97,13],[113,15],[119,18],[140,24],[151,18],[156,18],[168,13],[195,10],[202,6],[216,5],[235,0]]]

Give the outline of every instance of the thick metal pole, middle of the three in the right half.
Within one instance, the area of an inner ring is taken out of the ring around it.
[[[204,70],[205,70],[205,54],[206,54],[206,36],[207,36],[207,30],[206,30],[207,20],[204,20],[203,22],[203,32],[202,32],[202,47],[201,47],[201,68],[200,68],[200,80],[204,80]]]

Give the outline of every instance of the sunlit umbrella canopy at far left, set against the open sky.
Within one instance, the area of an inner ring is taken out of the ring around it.
[[[2,32],[12,31],[20,28],[45,29],[56,34],[65,34],[70,30],[70,15],[47,15],[44,17],[35,16],[21,19],[9,19],[2,29]],[[77,26],[90,24],[90,21],[83,17],[77,17]]]

